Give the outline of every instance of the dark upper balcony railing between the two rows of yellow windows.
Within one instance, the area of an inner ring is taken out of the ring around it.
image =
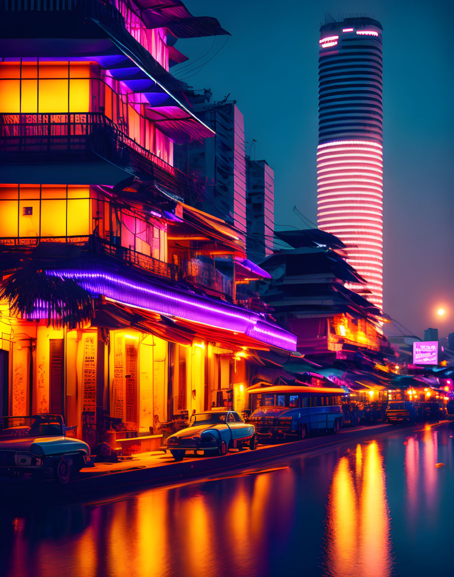
[[[105,114],[0,114],[0,155],[14,156],[15,162],[25,162],[26,155],[83,152],[94,152],[183,198],[203,193],[202,182],[143,148]]]

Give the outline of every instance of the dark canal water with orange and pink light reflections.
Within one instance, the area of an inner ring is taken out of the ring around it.
[[[82,504],[1,496],[2,575],[454,575],[454,430]],[[442,466],[441,466],[442,463]]]

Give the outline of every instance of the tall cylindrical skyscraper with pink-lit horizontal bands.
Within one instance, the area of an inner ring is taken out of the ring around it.
[[[364,296],[382,308],[381,24],[361,17],[323,25],[318,69],[318,226],[347,245],[371,291]]]

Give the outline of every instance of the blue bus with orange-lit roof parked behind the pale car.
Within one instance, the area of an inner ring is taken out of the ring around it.
[[[343,425],[340,388],[271,385],[248,390],[259,442],[302,440],[308,433],[337,433]]]

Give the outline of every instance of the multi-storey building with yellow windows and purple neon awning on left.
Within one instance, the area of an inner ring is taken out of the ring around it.
[[[159,0],[0,17],[0,414],[62,415],[92,448],[128,431],[140,451],[177,415],[244,409],[247,350],[286,358],[296,337],[240,306],[236,284],[267,273],[237,228],[186,204],[204,182],[174,165],[215,134],[170,72],[174,44],[227,32]]]

